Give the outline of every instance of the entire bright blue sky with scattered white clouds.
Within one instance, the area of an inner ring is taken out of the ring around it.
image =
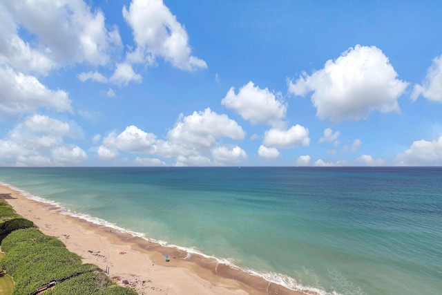
[[[0,0],[0,166],[441,166],[441,15]]]

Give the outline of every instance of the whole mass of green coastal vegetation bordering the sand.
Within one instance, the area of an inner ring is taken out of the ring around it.
[[[57,285],[45,294],[137,294],[117,286],[98,272],[96,265],[83,264],[81,257],[68,251],[61,240],[41,233],[30,220],[17,216],[4,200],[0,200],[0,221],[4,237],[1,250],[5,252],[0,256],[0,267],[10,275],[0,275],[0,294],[28,295],[52,281]]]

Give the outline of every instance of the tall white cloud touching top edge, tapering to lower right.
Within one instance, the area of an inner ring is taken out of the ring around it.
[[[205,61],[191,55],[184,26],[162,0],[133,0],[129,9],[124,6],[123,17],[133,29],[137,44],[135,51],[128,55],[128,61],[151,64],[160,56],[182,70],[207,68]]]

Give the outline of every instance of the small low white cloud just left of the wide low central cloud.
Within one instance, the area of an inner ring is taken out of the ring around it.
[[[104,138],[103,144],[108,148],[133,153],[151,153],[154,149],[156,135],[146,133],[137,126],[127,126],[122,133],[115,132]]]

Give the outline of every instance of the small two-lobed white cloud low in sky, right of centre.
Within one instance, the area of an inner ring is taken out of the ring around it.
[[[287,131],[270,129],[265,131],[263,143],[266,146],[289,149],[299,144],[308,146],[310,143],[309,129],[296,124]]]

